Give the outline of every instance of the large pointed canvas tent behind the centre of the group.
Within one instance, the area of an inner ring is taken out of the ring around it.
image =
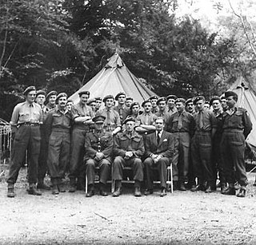
[[[105,67],[70,96],[70,99],[77,103],[79,101],[78,93],[83,90],[90,91],[91,97],[105,97],[108,94],[115,96],[119,92],[125,92],[127,97],[133,97],[134,101],[139,103],[155,95],[130,72],[118,53],[114,53]]]

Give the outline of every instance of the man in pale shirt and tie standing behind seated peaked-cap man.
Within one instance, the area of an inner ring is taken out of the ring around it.
[[[105,103],[105,108],[98,110],[96,116],[106,117],[103,125],[104,129],[106,132],[112,132],[115,135],[121,130],[121,121],[118,112],[113,109],[113,95],[104,97],[103,102]]]

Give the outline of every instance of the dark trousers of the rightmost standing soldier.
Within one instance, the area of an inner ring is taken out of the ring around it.
[[[238,180],[240,185],[246,186],[248,184],[245,164],[246,141],[242,130],[224,130],[221,144],[226,182],[234,184],[235,180]]]

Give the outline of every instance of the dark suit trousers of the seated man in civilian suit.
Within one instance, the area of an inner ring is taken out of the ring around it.
[[[157,163],[151,157],[147,157],[144,160],[145,171],[146,171],[146,188],[153,189],[153,168],[157,168],[161,188],[166,188],[167,180],[167,167],[170,166],[170,160],[167,157],[161,157]]]

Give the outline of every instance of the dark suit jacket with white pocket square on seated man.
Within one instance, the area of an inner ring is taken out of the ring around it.
[[[174,136],[170,132],[163,130],[159,144],[156,133],[150,133],[145,137],[145,155],[149,157],[151,154],[157,154],[171,158],[174,155],[174,143]]]

